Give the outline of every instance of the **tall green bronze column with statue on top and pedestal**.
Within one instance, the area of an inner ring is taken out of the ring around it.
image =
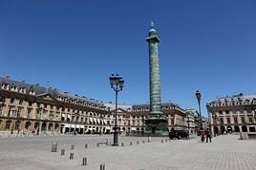
[[[145,133],[152,136],[165,136],[168,135],[168,127],[167,119],[162,114],[160,103],[160,38],[154,28],[153,22],[151,22],[151,28],[146,41],[149,47],[150,113],[145,118]]]

